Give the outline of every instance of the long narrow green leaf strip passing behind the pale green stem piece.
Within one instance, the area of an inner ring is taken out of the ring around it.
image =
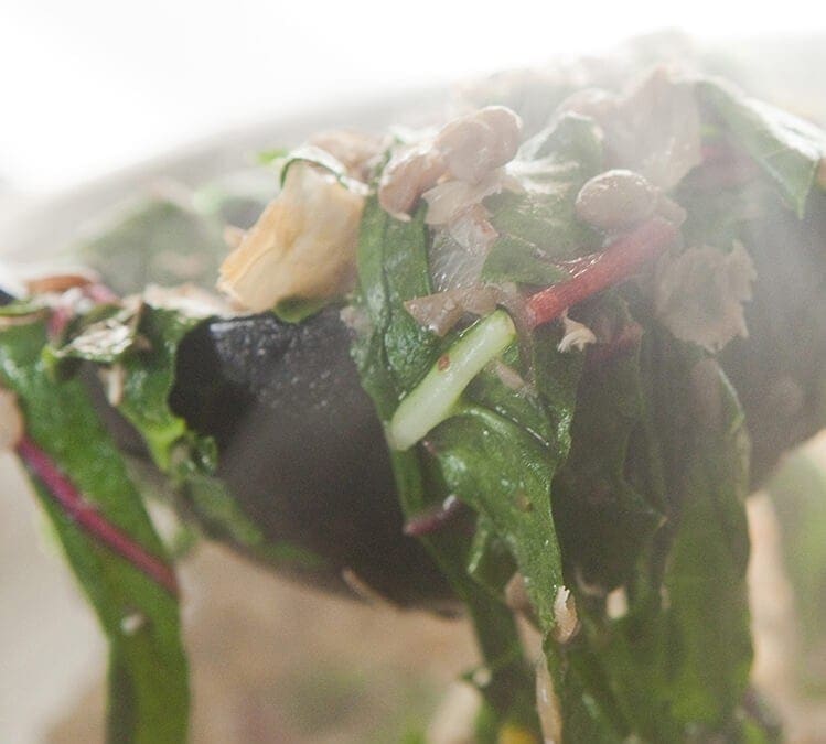
[[[385,421],[440,353],[440,339],[419,326],[403,304],[431,291],[428,244],[422,212],[410,223],[401,223],[375,200],[368,201],[357,249],[357,308],[368,327],[356,337],[353,356],[362,384]],[[391,451],[390,456],[398,497],[408,517],[448,495],[441,468],[423,448]],[[536,729],[532,673],[513,616],[468,574],[470,540],[459,532],[443,531],[423,537],[422,542],[465,603],[476,628],[491,672],[490,682],[482,686],[490,729],[495,731],[507,720],[527,720]]]

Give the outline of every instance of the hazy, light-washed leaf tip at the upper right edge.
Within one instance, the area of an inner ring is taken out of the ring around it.
[[[817,166],[826,155],[823,130],[719,80],[699,80],[697,90],[731,139],[774,182],[797,216],[803,217]]]

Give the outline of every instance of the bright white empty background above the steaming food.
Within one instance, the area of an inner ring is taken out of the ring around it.
[[[715,39],[812,31],[824,25],[817,7],[1,0],[0,180],[58,188],[280,111],[599,51],[664,26]]]

